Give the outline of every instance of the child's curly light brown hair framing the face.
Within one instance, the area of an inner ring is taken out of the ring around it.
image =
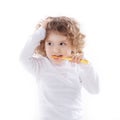
[[[41,54],[46,56],[45,52],[45,40],[50,34],[51,31],[59,32],[60,34],[66,36],[68,40],[71,41],[74,50],[72,51],[73,54],[75,53],[82,53],[83,47],[85,44],[84,37],[80,32],[79,24],[73,18],[60,16],[60,17],[48,17],[52,19],[52,21],[47,23],[46,27],[46,37],[44,40],[40,42],[40,45],[35,49],[37,54]],[[48,19],[46,18],[46,19]],[[37,24],[36,29],[38,29],[41,24]]]

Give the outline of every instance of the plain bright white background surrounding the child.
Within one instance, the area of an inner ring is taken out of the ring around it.
[[[47,16],[76,18],[86,35],[85,56],[100,76],[100,93],[82,91],[85,118],[120,120],[119,0],[0,1],[0,120],[36,120],[35,79],[19,55],[36,23]]]

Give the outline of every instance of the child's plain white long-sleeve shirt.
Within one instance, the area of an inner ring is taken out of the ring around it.
[[[20,57],[37,79],[40,120],[81,120],[81,87],[98,93],[96,72],[91,64],[64,61],[55,65],[46,57],[33,57],[45,34],[45,29],[39,28],[27,41]]]

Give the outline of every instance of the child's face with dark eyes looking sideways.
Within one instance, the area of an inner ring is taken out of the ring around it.
[[[45,51],[50,61],[55,64],[60,64],[64,60],[60,58],[53,59],[51,56],[71,56],[72,45],[66,36],[57,32],[51,32],[45,40]]]

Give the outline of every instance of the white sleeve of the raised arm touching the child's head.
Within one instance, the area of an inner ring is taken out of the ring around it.
[[[45,38],[46,31],[44,28],[40,27],[35,33],[28,39],[25,44],[21,55],[20,61],[23,63],[24,67],[32,74],[36,73],[40,69],[41,59],[33,57],[35,48],[40,45],[40,41]]]

